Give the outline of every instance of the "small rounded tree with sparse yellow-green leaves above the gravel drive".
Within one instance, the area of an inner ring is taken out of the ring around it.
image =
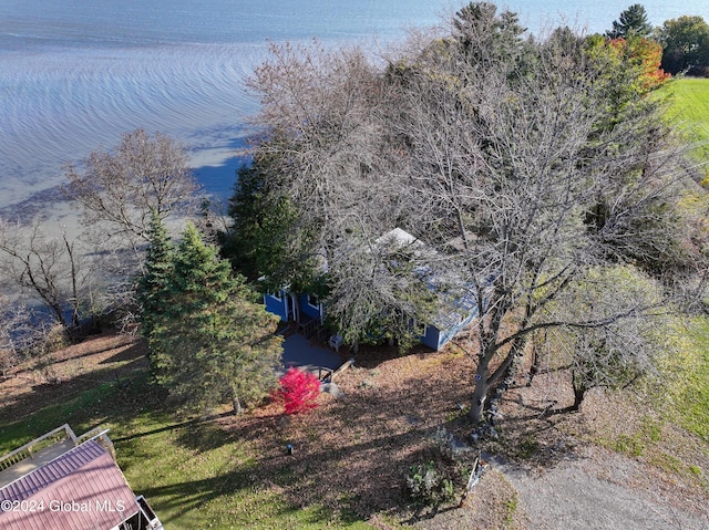
[[[571,366],[574,389],[574,403],[554,412],[578,411],[592,388],[625,387],[656,373],[656,360],[672,350],[662,336],[669,329],[664,302],[659,282],[616,266],[588,269],[549,304],[547,321],[558,325],[548,329]],[[610,319],[608,308],[615,311]],[[604,325],[579,325],[604,319]]]

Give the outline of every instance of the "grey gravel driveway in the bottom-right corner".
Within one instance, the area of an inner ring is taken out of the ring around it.
[[[709,507],[681,484],[655,489],[660,478],[647,466],[599,448],[585,453],[544,472],[493,461],[517,490],[530,529],[709,529]]]

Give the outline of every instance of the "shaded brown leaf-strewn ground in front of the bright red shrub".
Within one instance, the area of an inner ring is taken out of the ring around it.
[[[361,371],[369,377],[371,371]],[[367,520],[377,513],[407,517],[413,510],[404,482],[420,464],[427,438],[448,418],[467,388],[451,372],[422,373],[400,384],[358,385],[309,415],[278,423],[273,416],[234,425],[258,448],[260,487],[275,484],[288,503],[321,505]],[[289,455],[286,444],[294,447]]]

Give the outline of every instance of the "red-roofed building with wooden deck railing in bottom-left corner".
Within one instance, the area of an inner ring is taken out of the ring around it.
[[[0,457],[3,530],[162,530],[113,457],[106,432],[68,425]]]

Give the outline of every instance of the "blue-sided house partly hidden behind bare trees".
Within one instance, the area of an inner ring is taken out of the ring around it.
[[[378,239],[378,241],[384,240],[423,247],[423,242],[400,228]],[[450,279],[448,282],[450,283]],[[467,285],[456,285],[454,290],[441,290],[435,282],[430,282],[430,288],[438,293],[438,314],[422,330],[420,341],[438,351],[477,316],[477,301],[474,291]],[[266,293],[264,303],[269,312],[278,315],[284,322],[295,323],[306,335],[323,323],[325,309],[315,294],[296,293],[284,288],[278,292]]]

